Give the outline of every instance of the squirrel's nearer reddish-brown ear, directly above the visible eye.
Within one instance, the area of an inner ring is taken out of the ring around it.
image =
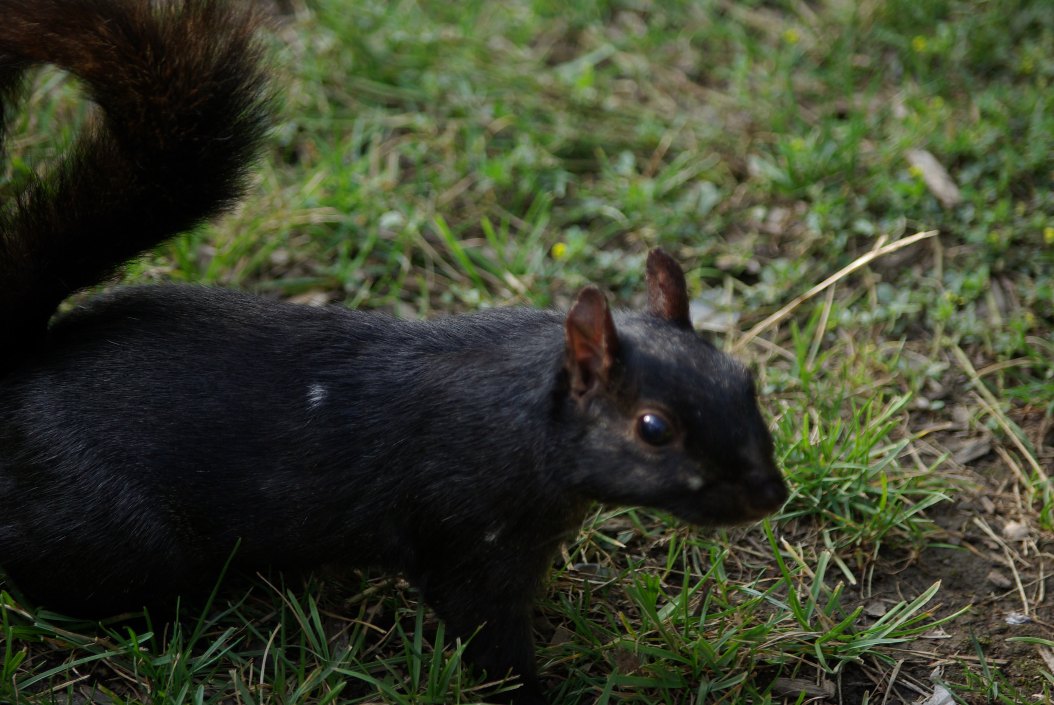
[[[564,320],[564,336],[571,396],[581,399],[608,380],[619,354],[614,321],[599,289],[586,287],[579,292]]]

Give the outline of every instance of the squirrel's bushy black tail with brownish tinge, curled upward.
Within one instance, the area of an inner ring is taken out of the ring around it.
[[[0,0],[0,119],[40,63],[101,107],[0,209],[0,374],[72,292],[241,197],[275,102],[258,27],[223,1]]]

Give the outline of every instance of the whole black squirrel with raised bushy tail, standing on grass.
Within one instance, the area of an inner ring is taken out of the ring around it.
[[[258,21],[233,5],[0,16],[5,115],[45,62],[101,109],[0,211],[0,565],[33,600],[161,605],[211,586],[239,542],[245,570],[378,566],[536,705],[532,596],[591,501],[723,525],[786,498],[749,373],[692,330],[660,250],[643,313],[592,287],[566,314],[412,321],[137,286],[48,325],[241,196],[274,97]]]

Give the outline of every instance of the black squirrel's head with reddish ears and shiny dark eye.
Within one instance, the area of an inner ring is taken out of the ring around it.
[[[648,254],[648,307],[612,316],[593,287],[564,324],[568,395],[582,419],[582,494],[692,524],[761,518],[787,497],[749,371],[700,337],[684,273]]]

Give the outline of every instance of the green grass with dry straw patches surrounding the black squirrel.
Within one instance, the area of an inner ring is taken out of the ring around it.
[[[1050,702],[1038,652],[1008,651],[1037,643],[960,614],[968,602],[937,584],[953,573],[929,557],[965,551],[942,518],[963,501],[998,500],[1040,552],[1054,529],[1046,2],[318,0],[274,44],[287,107],[258,188],[124,280],[401,317],[564,306],[588,282],[640,306],[644,255],[662,246],[730,348],[882,238],[940,230],[741,353],[792,485],[780,514],[699,531],[597,509],[539,602],[554,703],[802,702],[777,678],[880,703],[887,681],[868,673],[901,660],[889,702],[913,700],[903,684],[933,689],[919,654],[937,647],[912,640],[940,623],[984,632],[939,643],[960,702]],[[60,75],[35,89],[0,189],[84,116]],[[930,192],[912,149],[948,169],[960,204]],[[954,459],[956,436],[982,435],[996,453]],[[1036,602],[1035,552],[1010,547]],[[890,587],[920,566],[937,574]],[[77,623],[8,585],[0,702],[477,702],[501,687],[462,671],[461,645],[402,581],[252,581],[175,626]],[[866,611],[879,594],[884,616]],[[1020,611],[1017,594],[993,609]]]

